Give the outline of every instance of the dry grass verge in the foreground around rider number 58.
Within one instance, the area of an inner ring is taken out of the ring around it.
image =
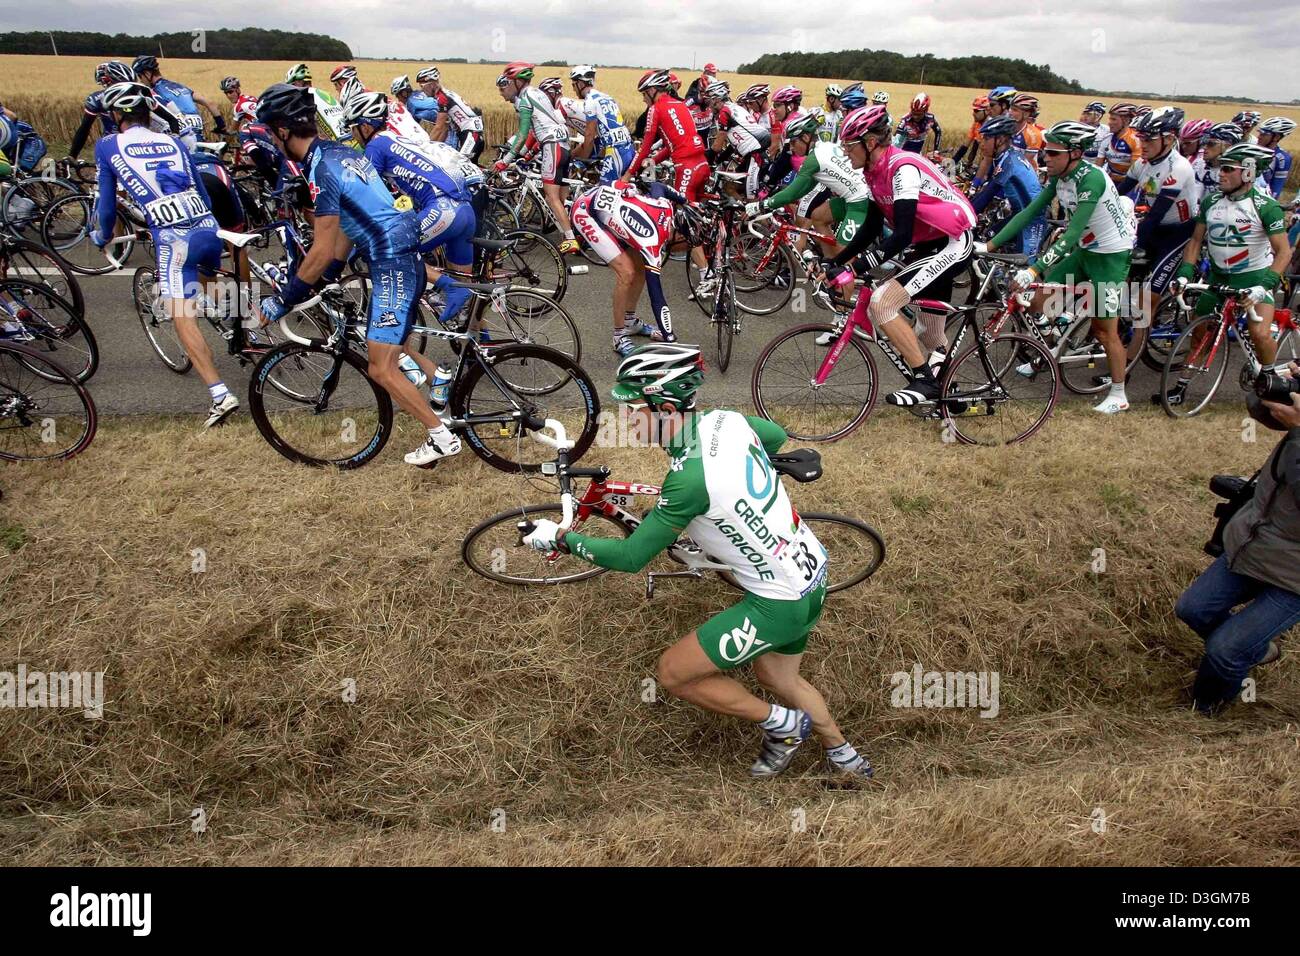
[[[968,449],[880,411],[823,447],[796,503],[889,546],[806,658],[878,766],[863,787],[814,753],[751,782],[751,727],[642,700],[724,585],[646,601],[641,578],[523,591],[460,563],[468,528],[543,488],[468,454],[411,470],[410,428],[341,475],[281,460],[247,419],[112,420],[68,464],[0,468],[0,671],[103,670],[108,698],[100,721],[0,710],[0,856],[1300,864],[1294,649],[1221,719],[1182,696],[1200,643],[1171,607],[1208,561],[1206,481],[1273,442],[1240,419],[1063,410],[1022,447]],[[599,462],[664,471],[655,450]],[[997,671],[997,715],[890,706],[914,663]]]

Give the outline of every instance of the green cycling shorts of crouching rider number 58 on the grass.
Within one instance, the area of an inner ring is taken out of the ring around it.
[[[796,601],[776,601],[746,592],[738,602],[696,628],[696,635],[708,659],[724,671],[768,650],[802,654],[824,604],[826,580]]]

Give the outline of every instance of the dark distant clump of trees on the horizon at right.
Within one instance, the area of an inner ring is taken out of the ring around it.
[[[1036,66],[1024,60],[1001,56],[937,57],[933,53],[904,56],[888,49],[841,49],[837,53],[764,53],[754,62],[741,64],[737,73],[786,77],[833,77],[871,79],[883,83],[922,83],[927,86],[983,86],[1008,83],[1034,92],[1091,92],[1075,79],[1052,72],[1048,64]]]

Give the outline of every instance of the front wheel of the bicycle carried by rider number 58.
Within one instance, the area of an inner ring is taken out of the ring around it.
[[[571,554],[546,555],[521,546],[519,523],[536,523],[541,518],[559,522],[560,506],[521,505],[511,511],[493,515],[465,535],[460,545],[460,557],[471,570],[503,584],[572,584],[604,574],[606,568]],[[592,518],[597,519],[597,533],[602,537],[628,536],[628,529],[608,515],[593,511]],[[585,527],[589,520],[584,522],[584,527],[575,529],[582,533],[590,532],[590,528]]]

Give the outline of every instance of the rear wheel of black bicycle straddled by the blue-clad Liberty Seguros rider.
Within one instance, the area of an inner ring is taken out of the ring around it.
[[[502,375],[502,365],[507,362],[526,362],[532,359],[534,363],[550,363],[560,369],[566,375],[566,380],[562,385],[567,384],[569,380],[573,382],[577,395],[582,403],[584,421],[581,428],[566,428],[568,437],[573,441],[573,449],[569,451],[569,460],[576,462],[586,450],[592,447],[592,442],[595,441],[595,433],[598,431],[598,419],[601,414],[601,399],[597,395],[595,385],[592,384],[592,378],[582,369],[581,365],[572,362],[563,352],[558,352],[554,349],[547,349],[541,345],[503,345],[494,346],[491,349],[490,364],[493,371],[503,380],[503,385],[511,392],[511,395],[503,395],[502,390],[495,385],[491,378],[486,377],[484,371],[484,364],[476,362],[469,365],[469,371],[465,372],[458,381],[452,384],[451,389],[451,410],[452,415],[458,419],[465,419],[473,412],[474,402],[474,389],[480,382],[486,381],[486,388],[484,389],[480,402],[491,402],[495,397],[497,401],[508,399],[508,403],[516,408],[524,411],[528,416],[545,419],[549,407],[543,405],[540,399],[547,398],[559,390],[560,386],[546,390],[523,390],[515,382],[510,381],[508,377]],[[506,414],[502,412],[488,412],[482,411],[484,406],[480,406],[477,414]],[[556,414],[551,418],[559,418],[558,410],[552,406],[551,411]],[[572,423],[573,416],[566,416],[566,425]],[[521,442],[532,442],[532,437],[524,433],[524,428],[516,419],[512,427],[508,427],[511,434],[500,434],[499,429],[502,425],[499,423],[484,423],[482,433],[477,431],[474,425],[467,425],[463,429],[458,429],[462,437],[468,442],[469,449],[478,455],[484,462],[490,464],[498,471],[504,471],[508,473],[534,473],[541,471],[542,463],[533,462],[525,463],[516,460],[516,458],[499,454],[494,450],[508,447],[508,442],[515,442],[515,447],[519,449]],[[495,436],[489,437],[490,429],[497,429]],[[538,450],[543,450],[541,445],[537,445]],[[552,459],[547,459],[552,460]]]

